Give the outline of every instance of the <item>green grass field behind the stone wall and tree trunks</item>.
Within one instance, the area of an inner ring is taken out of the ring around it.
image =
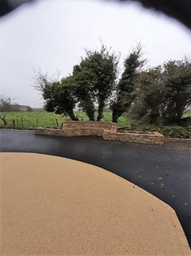
[[[88,117],[83,112],[76,112],[79,120],[88,120]],[[110,122],[111,121],[111,112],[104,112],[104,118],[102,121]],[[58,125],[57,121],[58,120]],[[15,127],[24,128],[24,129],[34,129],[36,127],[42,126],[61,126],[62,122],[70,120],[69,116],[57,115],[51,112],[7,112],[6,122],[7,126],[13,126],[13,120],[15,122]],[[129,116],[121,116],[118,120],[117,126],[126,126],[130,124]],[[23,124],[23,126],[22,126]],[[3,128],[4,124],[0,120],[0,127]]]

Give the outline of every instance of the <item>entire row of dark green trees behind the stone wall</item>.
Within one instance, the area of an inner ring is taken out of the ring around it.
[[[36,72],[34,87],[42,92],[46,111],[64,113],[71,120],[78,120],[74,115],[78,107],[90,120],[100,121],[109,105],[116,123],[124,112],[131,112],[148,124],[181,125],[191,104],[190,59],[169,60],[149,69],[145,64],[138,45],[125,58],[119,75],[119,55],[101,45],[99,50],[86,51],[67,77]]]

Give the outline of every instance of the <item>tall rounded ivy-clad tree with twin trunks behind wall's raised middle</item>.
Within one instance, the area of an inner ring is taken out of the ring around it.
[[[86,51],[86,58],[74,66],[78,100],[90,120],[94,120],[96,105],[97,121],[103,117],[103,108],[115,87],[117,64],[118,56],[101,44],[100,51]]]

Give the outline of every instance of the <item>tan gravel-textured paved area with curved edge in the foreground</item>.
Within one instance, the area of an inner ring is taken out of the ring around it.
[[[1,153],[2,255],[190,255],[173,209],[79,161]]]

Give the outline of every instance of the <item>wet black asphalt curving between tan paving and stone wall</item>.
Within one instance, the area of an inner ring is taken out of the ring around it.
[[[191,247],[190,141],[158,146],[0,130],[0,151],[64,156],[116,173],[172,206]]]

